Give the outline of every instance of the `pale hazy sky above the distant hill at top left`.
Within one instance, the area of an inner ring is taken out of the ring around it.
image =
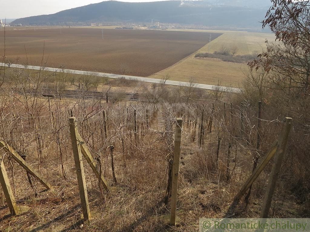
[[[13,0],[0,5],[0,19],[17,19],[33,15],[48,15],[104,0]],[[158,1],[158,0],[157,0]],[[152,0],[122,0],[122,2],[153,2]]]

